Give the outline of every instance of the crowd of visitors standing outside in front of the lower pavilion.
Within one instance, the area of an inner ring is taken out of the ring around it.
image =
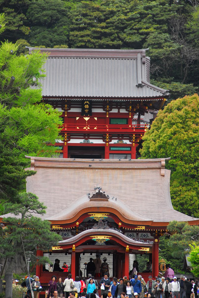
[[[165,273],[167,275],[168,272]],[[152,279],[149,275],[146,282],[141,275],[134,275],[130,280],[113,277],[112,281],[105,273],[100,282],[89,274],[88,279],[76,276],[75,280],[69,273],[62,282],[52,276],[47,290],[47,298],[198,298],[199,281],[190,281],[181,275],[179,281],[176,276],[169,278],[158,276]]]

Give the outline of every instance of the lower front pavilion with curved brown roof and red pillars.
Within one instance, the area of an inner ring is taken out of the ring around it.
[[[28,156],[27,156],[28,157]],[[129,276],[137,254],[147,255],[150,274],[158,275],[159,237],[170,221],[199,224],[175,211],[170,199],[170,170],[161,159],[74,159],[28,157],[31,170],[27,192],[47,206],[51,229],[63,240],[44,252],[52,263],[66,261],[73,278],[86,276],[85,262],[105,256],[112,278]],[[38,250],[38,255],[43,255]],[[85,259],[86,258],[86,259]],[[149,273],[139,272],[144,278]],[[37,266],[43,284],[51,272]],[[56,272],[57,277],[66,272]]]

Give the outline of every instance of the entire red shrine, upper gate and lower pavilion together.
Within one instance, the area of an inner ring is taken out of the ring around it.
[[[43,101],[62,112],[62,139],[57,158],[26,156],[37,171],[27,178],[27,192],[47,206],[40,217],[63,240],[38,256],[60,259],[60,266],[66,261],[74,279],[86,276],[96,254],[107,258],[110,278],[129,277],[136,255],[147,255],[151,272],[139,273],[157,276],[159,237],[169,222],[199,224],[172,207],[169,156],[138,159],[168,91],[150,84],[146,50],[40,51],[49,54]],[[47,269],[37,265],[42,285],[51,279]],[[55,274],[63,280],[68,273]]]

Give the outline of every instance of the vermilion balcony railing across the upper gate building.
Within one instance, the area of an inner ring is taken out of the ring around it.
[[[116,124],[63,124],[62,132],[94,132],[94,133],[137,133],[144,134],[149,129],[149,125],[136,124],[136,125],[116,125]]]

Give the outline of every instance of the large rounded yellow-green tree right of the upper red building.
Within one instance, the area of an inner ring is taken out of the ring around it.
[[[159,111],[143,138],[142,158],[171,157],[174,208],[199,217],[199,96],[185,96]]]

